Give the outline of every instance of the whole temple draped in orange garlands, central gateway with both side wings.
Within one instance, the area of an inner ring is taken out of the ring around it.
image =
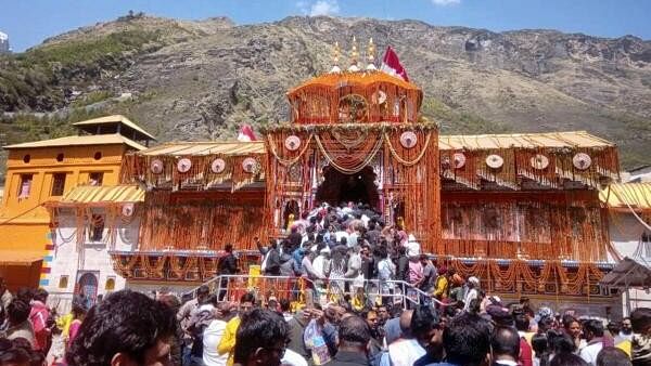
[[[226,244],[246,271],[259,263],[254,238],[284,237],[307,212],[353,201],[412,234],[438,265],[478,276],[488,292],[557,309],[612,304],[599,280],[620,254],[599,192],[618,179],[613,143],[585,131],[439,135],[420,114],[422,90],[372,64],[335,66],[286,96],[290,120],[265,127],[260,141],[144,148],[124,136],[151,140],[135,123],[77,123],[135,148],[119,149],[119,181],[111,186],[66,186],[48,200],[51,230],[62,233],[51,247],[65,236],[75,243],[68,257],[82,265],[94,246],[105,259],[98,265],[107,267],[95,295],[101,283],[104,292],[182,291],[216,276]],[[22,167],[27,147],[36,145],[9,146],[10,168]],[[5,202],[20,192],[8,182]],[[53,256],[65,265],[56,256],[67,254]],[[44,279],[79,291],[59,278],[75,275],[65,271]]]

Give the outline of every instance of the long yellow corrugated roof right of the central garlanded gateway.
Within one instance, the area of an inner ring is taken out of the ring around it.
[[[615,144],[586,131],[550,133],[511,133],[477,135],[441,135],[439,149],[489,149],[537,147],[612,147]]]

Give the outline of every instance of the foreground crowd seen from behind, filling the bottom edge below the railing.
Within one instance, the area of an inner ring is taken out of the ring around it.
[[[2,288],[1,366],[47,365],[54,329],[66,332],[65,353],[52,365],[651,364],[648,308],[607,327],[534,310],[527,299],[502,304],[496,297],[486,308],[480,297],[460,311],[431,304],[356,311],[331,303],[291,313],[286,300],[261,302],[247,292],[239,302],[219,301],[204,286],[183,304],[166,290],[155,298],[120,290],[87,312],[75,301],[69,315],[52,319],[47,292],[31,291],[30,299],[26,292]]]

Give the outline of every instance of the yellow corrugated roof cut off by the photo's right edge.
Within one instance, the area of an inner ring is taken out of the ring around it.
[[[651,210],[651,183],[610,184],[599,192],[599,199],[609,208]]]

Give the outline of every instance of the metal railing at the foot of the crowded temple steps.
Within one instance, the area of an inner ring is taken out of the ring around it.
[[[256,298],[266,300],[273,296],[278,300],[288,299],[292,302],[307,303],[309,296],[315,302],[324,305],[361,296],[365,303],[375,303],[378,298],[391,298],[392,304],[401,304],[403,309],[422,303],[438,303],[423,290],[413,287],[405,280],[380,280],[357,278],[330,278],[311,280],[306,277],[266,276],[266,275],[220,275],[205,282],[219,299],[239,301],[244,292],[257,295]],[[199,286],[184,293],[184,298],[194,298]]]

